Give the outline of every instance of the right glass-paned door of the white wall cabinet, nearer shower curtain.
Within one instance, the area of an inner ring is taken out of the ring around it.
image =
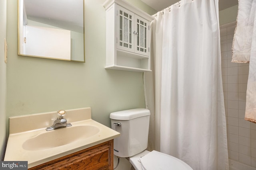
[[[136,46],[135,53],[148,56],[149,52],[149,22],[143,18],[135,15],[135,31],[136,31]]]

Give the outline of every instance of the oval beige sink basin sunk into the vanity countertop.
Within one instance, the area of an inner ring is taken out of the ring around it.
[[[64,127],[52,131],[46,131],[36,135],[35,137],[27,139],[23,143],[22,147],[25,150],[50,149],[92,137],[99,131],[100,129],[93,125]]]

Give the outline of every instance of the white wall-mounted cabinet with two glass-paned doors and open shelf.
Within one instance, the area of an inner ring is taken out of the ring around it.
[[[145,72],[150,70],[150,22],[154,18],[123,0],[107,0],[106,67]]]

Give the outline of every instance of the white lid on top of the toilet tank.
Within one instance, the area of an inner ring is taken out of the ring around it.
[[[138,109],[129,109],[129,110],[116,111],[116,112],[110,113],[110,119],[130,120],[130,119],[135,119],[137,117],[143,117],[148,115],[150,115],[149,109],[138,108]]]

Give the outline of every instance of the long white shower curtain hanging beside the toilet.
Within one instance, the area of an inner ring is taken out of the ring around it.
[[[155,98],[153,149],[194,170],[228,170],[218,0],[182,0],[157,13],[152,32],[154,75],[144,79],[150,108]]]

